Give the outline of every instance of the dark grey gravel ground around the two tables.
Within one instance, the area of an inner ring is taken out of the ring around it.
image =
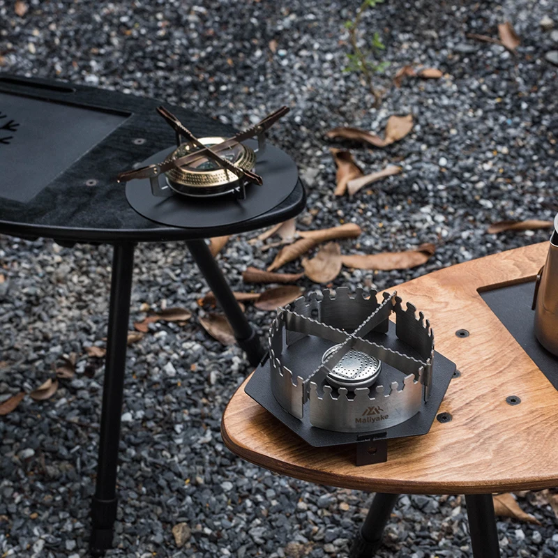
[[[243,126],[278,105],[292,107],[273,140],[292,153],[308,183],[300,227],[356,222],[364,234],[345,250],[400,250],[435,242],[437,252],[411,271],[344,270],[334,285],[384,288],[434,269],[544,241],[548,232],[485,234],[502,219],[550,219],[558,210],[556,68],[558,33],[550,0],[391,0],[365,17],[368,35],[386,43],[386,73],[413,63],[444,70],[437,81],[386,88],[382,107],[356,75],[342,73],[355,2],[271,0],[206,3],[30,2],[24,17],[0,0],[2,70],[157,96]],[[518,55],[465,38],[495,36],[511,20]],[[269,42],[277,41],[277,50]],[[393,161],[404,168],[349,199],[333,196],[335,168],[323,133],[349,124],[381,131],[390,114],[416,125],[387,149],[354,149],[365,169]],[[220,264],[236,289],[241,271],[263,267],[273,250],[230,241]],[[0,237],[0,400],[30,390],[62,354],[102,345],[110,282],[110,248],[61,248],[52,241]],[[297,264],[287,266],[296,270]],[[317,288],[310,281],[301,282]],[[131,319],[140,306],[197,312],[206,291],[185,247],[137,250]],[[248,308],[263,333],[271,314]],[[312,558],[347,555],[370,496],[272,476],[237,459],[220,439],[220,415],[250,371],[237,347],[223,348],[196,319],[158,323],[130,347],[119,472],[121,506],[114,556],[233,555]],[[0,422],[0,555],[86,555],[103,365],[80,356],[77,375],[47,402],[24,400]],[[403,496],[389,522],[381,557],[468,557],[459,496]],[[541,527],[498,522],[502,555],[553,557],[555,519],[522,506]],[[180,550],[172,526],[186,522]]]

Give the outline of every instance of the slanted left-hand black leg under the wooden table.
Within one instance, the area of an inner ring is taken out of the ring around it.
[[[353,541],[351,558],[371,558],[382,545],[382,535],[398,494],[376,492],[363,525]]]

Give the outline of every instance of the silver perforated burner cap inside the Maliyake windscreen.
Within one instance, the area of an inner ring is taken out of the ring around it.
[[[340,346],[333,345],[333,347],[329,347],[322,356],[322,363],[329,359],[331,354]],[[363,352],[351,349],[333,367],[326,376],[326,380],[331,386],[339,388],[347,388],[349,390],[365,388],[371,386],[376,381],[381,370],[382,361]]]

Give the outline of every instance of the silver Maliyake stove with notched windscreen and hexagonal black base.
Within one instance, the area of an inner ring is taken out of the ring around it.
[[[356,442],[364,465],[386,460],[387,439],[428,432],[454,372],[396,292],[339,288],[278,310],[246,393],[314,446]]]

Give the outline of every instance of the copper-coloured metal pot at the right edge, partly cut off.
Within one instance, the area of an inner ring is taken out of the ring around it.
[[[536,338],[545,349],[558,356],[558,214],[546,262],[536,278],[533,309]]]

